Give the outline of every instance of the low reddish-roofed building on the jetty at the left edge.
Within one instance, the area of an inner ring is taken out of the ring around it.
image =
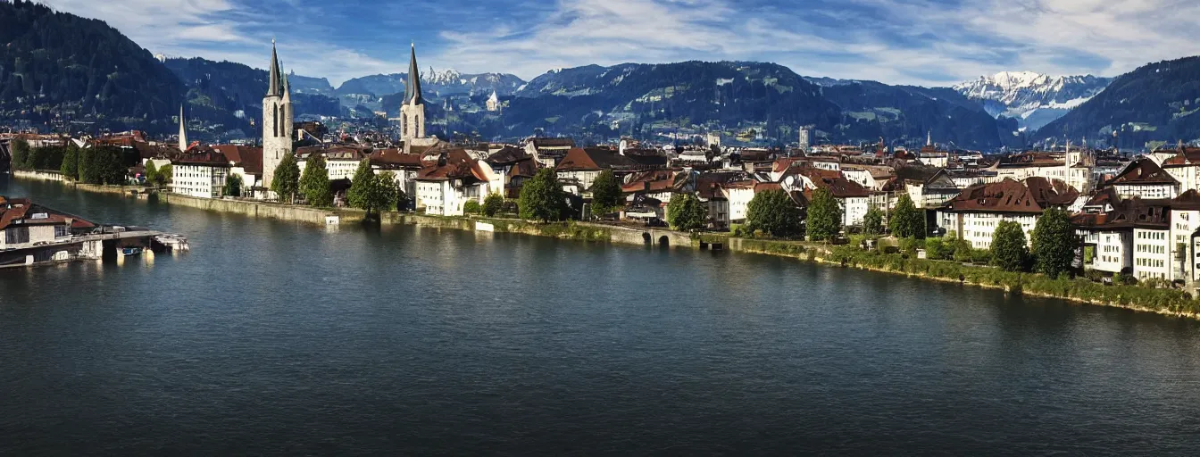
[[[35,204],[0,196],[0,251],[70,241],[96,224]]]

